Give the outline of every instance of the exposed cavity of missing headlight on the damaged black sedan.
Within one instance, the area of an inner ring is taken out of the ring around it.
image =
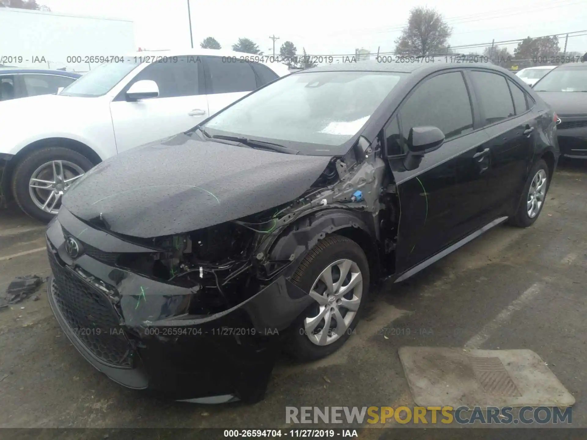
[[[194,292],[193,315],[230,309],[257,293],[268,273],[255,249],[278,228],[289,205],[197,231],[152,239],[126,238],[155,252],[121,253],[116,266]]]

